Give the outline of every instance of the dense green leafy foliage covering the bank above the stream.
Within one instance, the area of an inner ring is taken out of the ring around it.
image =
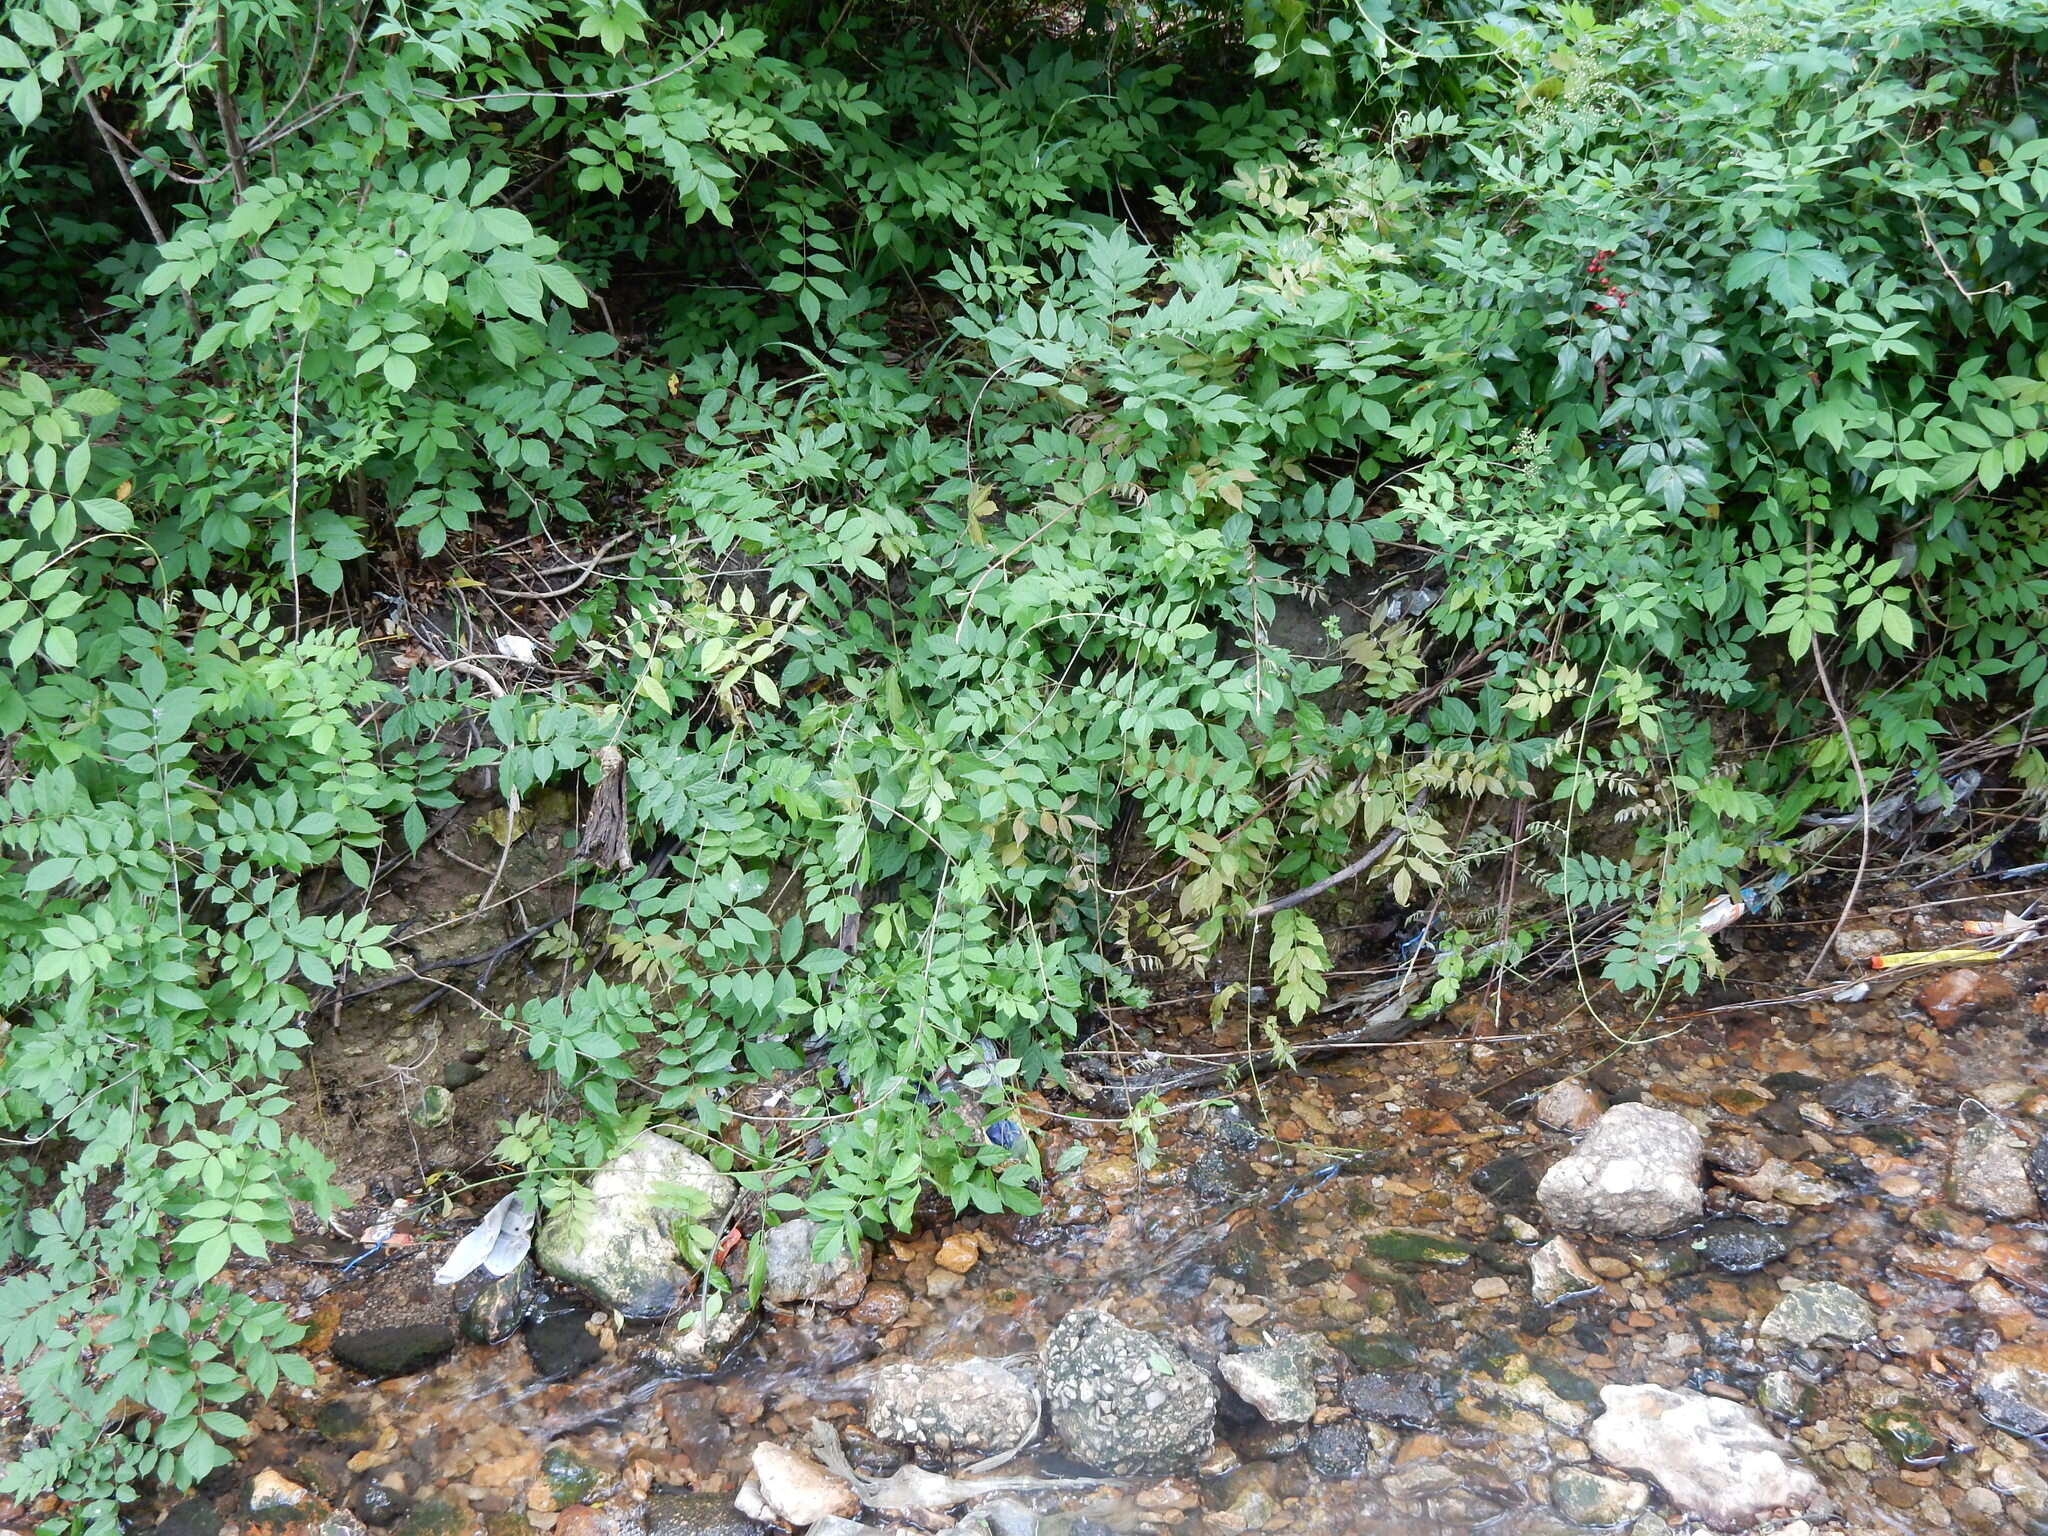
[[[1694,985],[1800,813],[2023,745],[2038,6],[817,10],[6,2],[0,1491],[106,1530],[303,1372],[221,1270],[328,1198],[283,1081],[465,762],[616,750],[666,850],[504,1155],[686,1122],[852,1233],[1028,1208],[983,1116],[1145,969],[1300,1020],[1255,907],[1389,834]],[[586,522],[553,670],[332,625]],[[805,1061],[815,1139],[727,1126]]]

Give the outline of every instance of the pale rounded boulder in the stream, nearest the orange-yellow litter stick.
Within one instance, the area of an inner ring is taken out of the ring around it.
[[[1700,1219],[1700,1159],[1692,1120],[1616,1104],[1542,1176],[1536,1198],[1559,1227],[1659,1237]]]

